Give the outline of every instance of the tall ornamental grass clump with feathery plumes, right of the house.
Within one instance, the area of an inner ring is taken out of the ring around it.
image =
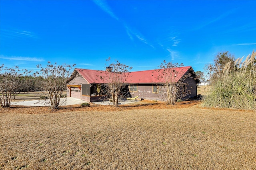
[[[216,68],[211,77],[210,95],[204,97],[207,107],[256,110],[256,53]]]

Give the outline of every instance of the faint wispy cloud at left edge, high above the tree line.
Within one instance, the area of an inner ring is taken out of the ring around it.
[[[35,33],[30,31],[2,29],[1,36],[5,37],[20,37],[20,38],[37,38]]]

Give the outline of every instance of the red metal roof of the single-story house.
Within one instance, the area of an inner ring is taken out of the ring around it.
[[[175,77],[175,80],[178,81],[190,68],[191,66],[168,68],[168,73],[172,73],[172,77]],[[108,72],[105,70],[88,70],[80,68],[76,68],[75,70],[77,70],[90,84],[106,83],[107,81],[106,78],[100,78],[108,75]],[[126,82],[130,84],[162,83],[164,82],[164,78],[159,76],[159,73],[161,72],[163,72],[162,69],[130,72]],[[112,74],[115,73],[113,72]]]

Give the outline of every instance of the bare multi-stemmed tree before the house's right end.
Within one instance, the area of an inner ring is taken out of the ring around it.
[[[186,79],[190,78],[191,74],[181,66],[183,64],[166,63],[164,61],[159,66],[160,69],[156,70],[158,72],[158,80],[161,81],[159,83],[159,91],[164,95],[166,104],[175,104],[178,99],[182,99],[191,93],[186,82]]]

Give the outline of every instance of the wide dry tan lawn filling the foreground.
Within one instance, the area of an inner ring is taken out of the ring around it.
[[[198,101],[72,107],[0,109],[0,169],[256,167],[255,111]]]

